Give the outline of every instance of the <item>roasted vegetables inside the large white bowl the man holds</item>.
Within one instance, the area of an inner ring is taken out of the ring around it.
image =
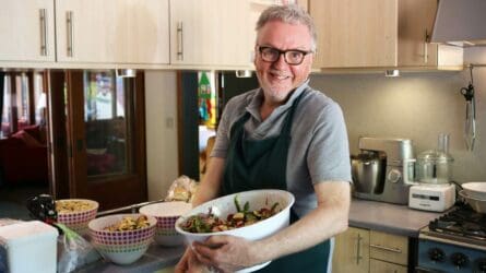
[[[180,227],[186,232],[197,234],[224,232],[254,224],[259,221],[269,218],[281,211],[278,210],[277,202],[271,207],[249,211],[250,204],[246,202],[241,207],[237,195],[235,197],[235,206],[236,213],[228,214],[226,219],[220,218],[210,209],[209,213],[200,213],[188,217]]]

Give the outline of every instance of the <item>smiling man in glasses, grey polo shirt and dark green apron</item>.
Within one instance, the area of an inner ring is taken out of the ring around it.
[[[325,272],[330,238],[347,228],[346,128],[337,104],[308,86],[312,21],[297,5],[271,7],[257,32],[260,88],[228,102],[193,205],[245,190],[284,189],[296,198],[292,225],[258,241],[213,236],[194,242],[176,272],[233,272],[269,260],[261,272]]]

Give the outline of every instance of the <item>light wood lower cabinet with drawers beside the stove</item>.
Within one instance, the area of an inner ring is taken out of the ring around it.
[[[335,238],[333,272],[407,272],[408,238],[349,227]]]

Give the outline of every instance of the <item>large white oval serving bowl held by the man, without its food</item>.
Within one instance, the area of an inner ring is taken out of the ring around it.
[[[208,213],[210,207],[212,207],[213,213],[217,214],[218,217],[226,218],[228,214],[236,212],[235,195],[238,195],[238,201],[241,206],[248,201],[250,211],[260,210],[262,207],[271,207],[275,202],[278,202],[278,207],[282,209],[282,211],[270,218],[262,219],[252,225],[225,232],[195,234],[186,232],[180,227],[180,225],[186,222],[189,216],[200,213]],[[204,241],[210,236],[215,235],[233,235],[242,237],[247,240],[259,240],[288,226],[291,221],[291,207],[294,204],[294,195],[284,190],[252,190],[234,193],[211,200],[192,209],[189,213],[177,219],[176,230],[183,235],[188,245],[191,245],[193,241]],[[238,272],[252,272],[268,265],[270,261],[240,270]]]

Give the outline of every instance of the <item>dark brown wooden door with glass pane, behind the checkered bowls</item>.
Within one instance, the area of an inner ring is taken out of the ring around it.
[[[56,197],[96,200],[99,210],[146,201],[143,73],[135,78],[118,78],[112,70],[56,73],[51,78],[52,142],[59,144],[52,149]]]

